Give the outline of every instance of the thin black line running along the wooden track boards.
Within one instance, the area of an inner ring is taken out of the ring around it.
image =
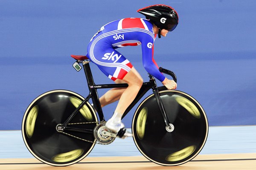
[[[252,161],[256,159],[210,159],[210,160],[192,160],[191,162],[207,162],[207,161]],[[149,163],[151,161],[112,161],[112,162],[78,162],[76,164],[120,164],[120,163]],[[45,163],[0,163],[0,165],[15,164],[45,164]]]

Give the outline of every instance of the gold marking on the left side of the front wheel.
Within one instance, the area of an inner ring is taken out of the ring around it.
[[[137,135],[140,140],[143,139],[144,134],[145,134],[145,125],[146,125],[146,119],[148,116],[148,109],[144,107],[138,116],[137,119],[137,124],[136,124],[136,129],[137,129]]]

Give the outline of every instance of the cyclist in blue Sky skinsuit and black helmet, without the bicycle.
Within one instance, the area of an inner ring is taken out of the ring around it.
[[[106,76],[116,83],[128,84],[128,88],[113,88],[99,99],[102,107],[119,100],[113,116],[106,122],[106,127],[119,137],[132,136],[132,133],[126,131],[121,119],[138,94],[143,79],[131,62],[116,51],[116,48],[142,45],[145,70],[160,80],[166,88],[177,88],[173,80],[160,73],[153,58],[153,44],[157,34],[159,38],[161,35],[166,37],[169,31],[175,29],[178,24],[177,12],[167,5],[147,6],[137,12],[145,15],[146,19],[125,18],[108,23],[102,26],[87,46],[87,57]]]

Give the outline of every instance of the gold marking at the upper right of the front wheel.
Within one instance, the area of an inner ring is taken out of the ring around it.
[[[200,112],[198,111],[198,108],[190,102],[188,99],[182,96],[173,95],[175,97],[175,100],[183,107],[185,108],[192,116],[194,116],[197,119],[201,118]]]

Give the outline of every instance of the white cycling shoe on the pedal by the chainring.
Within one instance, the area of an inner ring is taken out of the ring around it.
[[[133,136],[132,133],[125,129],[125,125],[122,122],[114,123],[113,120],[110,119],[106,122],[105,126],[112,132],[116,133],[116,136],[119,138],[125,139]]]

